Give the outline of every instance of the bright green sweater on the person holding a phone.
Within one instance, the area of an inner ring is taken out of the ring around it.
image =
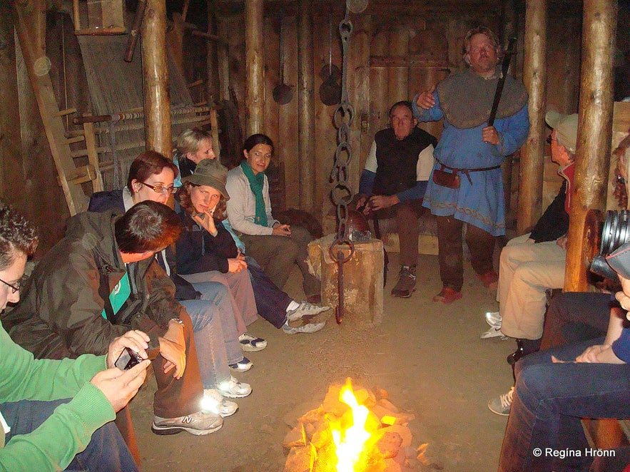
[[[4,444],[0,427],[1,471],[59,471],[88,445],[96,429],[116,418],[103,393],[90,383],[106,368],[105,356],[34,359],[9,338],[0,324],[0,403],[72,398],[29,434]],[[4,447],[2,447],[4,446]]]

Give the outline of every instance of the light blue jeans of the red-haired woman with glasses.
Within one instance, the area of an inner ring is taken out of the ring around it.
[[[181,304],[186,307],[186,312],[193,322],[203,388],[215,389],[220,382],[230,378],[221,318],[216,316],[218,307],[203,299],[183,300]],[[240,359],[243,359],[243,354],[240,354]]]

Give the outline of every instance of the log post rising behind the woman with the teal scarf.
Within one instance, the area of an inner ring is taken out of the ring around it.
[[[245,0],[245,132],[264,130],[263,0]]]

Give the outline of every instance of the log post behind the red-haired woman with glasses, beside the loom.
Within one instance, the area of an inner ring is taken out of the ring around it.
[[[166,63],[165,0],[147,0],[142,22],[142,75],[146,149],[171,158],[173,143]]]

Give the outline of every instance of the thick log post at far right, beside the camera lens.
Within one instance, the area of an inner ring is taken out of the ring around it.
[[[582,67],[576,168],[571,190],[569,241],[564,289],[587,288],[588,247],[584,247],[586,213],[604,210],[612,135],[613,51],[616,1],[585,0],[582,21]]]

